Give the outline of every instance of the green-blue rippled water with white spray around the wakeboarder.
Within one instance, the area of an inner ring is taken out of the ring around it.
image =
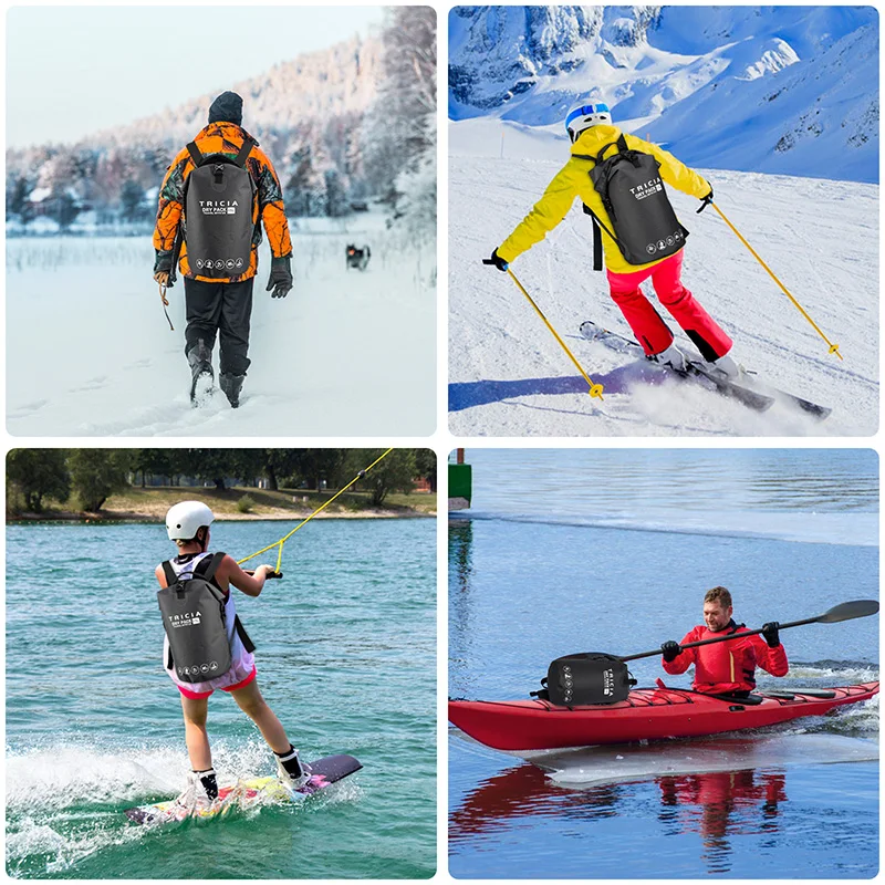
[[[222,522],[242,558],[288,522]],[[364,769],[320,795],[232,819],[144,827],[123,811],[189,770],[160,667],[162,525],[7,530],[7,870],[62,878],[413,878],[436,870],[435,520],[317,520],[282,581],[238,610],[258,681],[310,760]],[[275,551],[257,559],[275,561]],[[209,701],[219,780],[270,774],[232,698]]]

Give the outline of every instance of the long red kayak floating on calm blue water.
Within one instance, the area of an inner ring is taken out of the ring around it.
[[[723,700],[683,688],[638,688],[617,704],[554,707],[546,700],[450,700],[449,721],[496,750],[553,750],[696,738],[762,728],[868,700],[878,683],[771,691]]]

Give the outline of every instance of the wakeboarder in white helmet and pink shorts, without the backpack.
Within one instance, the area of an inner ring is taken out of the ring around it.
[[[209,527],[214,522],[212,511],[201,501],[181,501],[166,514],[166,531],[169,540],[178,548],[178,555],[160,563],[155,571],[160,587],[170,586],[176,580],[185,580],[195,574],[209,572],[214,554],[209,549]],[[262,737],[277,758],[277,773],[283,784],[298,789],[308,781],[308,767],[303,764],[298,750],[285,736],[280,720],[261,697],[256,681],[256,660],[252,644],[237,618],[237,610],[230,587],[247,596],[258,596],[264,586],[270,565],[259,565],[253,574],[244,572],[232,556],[219,555],[220,562],[207,580],[223,594],[223,627],[231,652],[231,666],[227,673],[202,681],[186,681],[178,675],[169,646],[168,629],[163,647],[163,666],[175,683],[181,696],[181,710],[185,717],[185,742],[192,771],[188,784],[178,798],[179,804],[189,810],[206,808],[218,796],[218,782],[212,768],[209,737],[206,732],[206,717],[209,696],[216,690],[228,691],[237,706],[258,726]],[[174,574],[169,574],[169,570]],[[210,629],[209,617],[204,617],[204,634]],[[199,623],[199,622],[196,622]],[[164,620],[165,626],[165,620]],[[205,641],[206,636],[199,637]]]

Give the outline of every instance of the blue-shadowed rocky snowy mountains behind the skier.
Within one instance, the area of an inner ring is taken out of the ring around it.
[[[690,165],[878,180],[873,7],[459,7],[449,59],[456,121],[605,101]]]

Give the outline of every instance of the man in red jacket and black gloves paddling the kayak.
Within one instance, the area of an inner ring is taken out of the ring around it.
[[[695,691],[706,695],[733,695],[747,697],[756,688],[756,668],[761,667],[772,676],[787,676],[790,665],[781,645],[779,624],[770,621],[762,626],[762,634],[743,639],[702,645],[699,648],[683,648],[687,643],[712,639],[728,634],[747,633],[743,624],[736,624],[732,614],[731,594],[726,587],[708,590],[704,597],[704,624],[683,637],[660,646],[664,669],[669,674],[685,673],[695,665]]]

